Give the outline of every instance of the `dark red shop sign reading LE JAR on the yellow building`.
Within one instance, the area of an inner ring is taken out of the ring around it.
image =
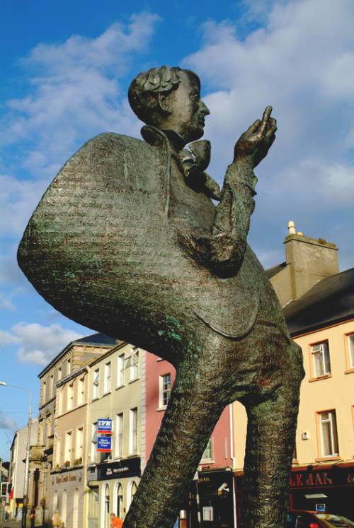
[[[353,486],[353,468],[333,468],[326,471],[292,471],[290,488],[329,488],[331,486]]]

